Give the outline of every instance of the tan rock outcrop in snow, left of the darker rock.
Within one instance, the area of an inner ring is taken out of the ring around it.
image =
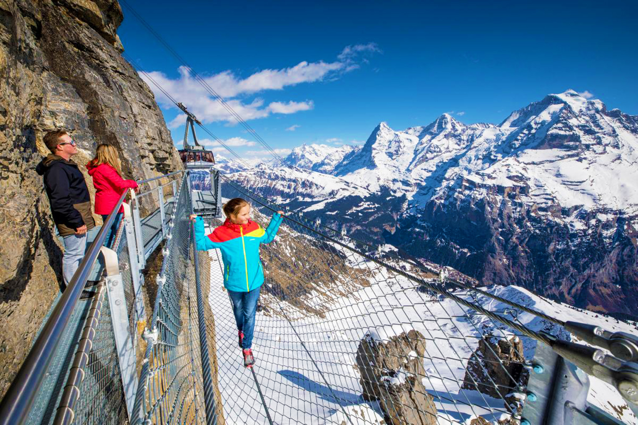
[[[357,349],[363,398],[378,400],[392,425],[436,425],[436,407],[422,378],[426,340],[412,330],[380,342],[366,335]]]

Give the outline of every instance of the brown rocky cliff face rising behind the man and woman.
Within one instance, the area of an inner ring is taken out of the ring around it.
[[[78,164],[99,143],[115,145],[128,178],[181,168],[151,90],[121,57],[121,22],[115,0],[0,0],[0,396],[61,280],[61,245],[34,171],[48,153],[43,135],[70,130]]]

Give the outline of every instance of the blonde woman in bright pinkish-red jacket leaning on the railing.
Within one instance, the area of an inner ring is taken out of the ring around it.
[[[117,150],[111,145],[98,145],[95,157],[86,164],[89,175],[93,177],[93,185],[95,187],[95,213],[100,214],[103,220],[113,211],[117,201],[119,201],[122,193],[127,189],[137,189],[135,180],[124,180],[122,178],[122,164],[117,154]],[[107,237],[104,240],[104,246],[110,248],[117,227],[122,219],[124,208],[121,206],[113,225],[107,231]]]

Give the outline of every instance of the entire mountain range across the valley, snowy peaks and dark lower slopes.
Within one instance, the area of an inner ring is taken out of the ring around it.
[[[237,178],[471,277],[635,313],[625,299],[638,296],[638,116],[567,90],[498,126],[449,114],[404,131],[382,122],[332,175],[313,172],[313,158],[323,161],[304,157],[304,173],[280,169],[283,185],[255,170]]]

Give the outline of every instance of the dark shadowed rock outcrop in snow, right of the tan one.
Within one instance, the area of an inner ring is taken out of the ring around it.
[[[504,340],[486,336],[468,361],[461,388],[516,403],[513,397],[510,400],[506,396],[516,392],[518,385],[527,383],[529,373],[523,367],[524,361],[521,338],[512,336]]]

